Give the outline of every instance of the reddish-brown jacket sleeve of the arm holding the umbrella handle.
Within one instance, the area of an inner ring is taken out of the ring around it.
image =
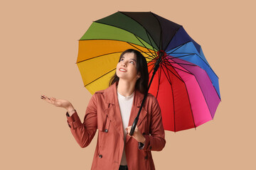
[[[139,149],[147,151],[161,151],[166,140],[164,139],[164,126],[161,118],[161,109],[156,98],[154,98],[154,103],[151,110],[151,120],[149,127],[149,135],[144,135],[146,138],[144,145],[139,143]]]

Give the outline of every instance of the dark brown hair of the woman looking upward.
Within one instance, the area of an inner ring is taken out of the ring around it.
[[[135,89],[140,91],[142,94],[146,94],[148,84],[149,84],[149,71],[146,64],[146,58],[139,51],[134,49],[128,49],[122,52],[118,62],[120,62],[121,57],[127,52],[132,52],[137,57],[137,73],[140,73],[140,77],[136,81]],[[119,81],[119,77],[117,77],[117,72],[115,72],[114,76],[110,79],[109,85],[111,86],[116,81]]]

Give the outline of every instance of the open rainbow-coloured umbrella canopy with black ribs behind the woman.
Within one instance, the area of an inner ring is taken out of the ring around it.
[[[151,12],[119,11],[94,21],[80,38],[77,64],[91,94],[107,88],[129,48],[146,57],[149,79],[154,77],[149,93],[159,101],[165,130],[196,128],[213,119],[220,103],[218,77],[201,46],[183,26]]]

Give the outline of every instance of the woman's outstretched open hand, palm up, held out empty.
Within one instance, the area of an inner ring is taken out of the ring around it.
[[[44,101],[47,101],[48,103],[51,103],[56,107],[66,108],[68,111],[73,109],[73,106],[69,101],[57,99],[57,98],[53,98],[53,97],[48,98],[47,96],[44,96],[44,95],[42,95],[41,98]]]

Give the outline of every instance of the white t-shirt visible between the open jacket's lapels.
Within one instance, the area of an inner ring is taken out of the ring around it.
[[[125,141],[126,141],[126,136],[127,136],[127,131],[125,130],[125,128],[128,127],[129,116],[131,114],[132,102],[133,102],[133,99],[134,99],[134,93],[131,94],[131,96],[122,96],[117,91],[117,98],[118,98],[120,112],[121,112],[121,115],[122,115],[122,123],[123,123],[123,128],[124,128],[124,147],[125,147]],[[121,165],[127,165],[125,150],[122,154]]]

